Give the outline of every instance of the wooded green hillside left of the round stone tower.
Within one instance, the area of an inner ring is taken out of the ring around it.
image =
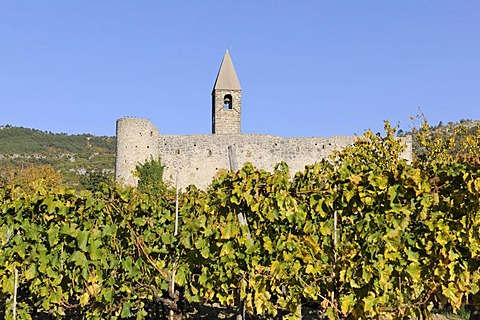
[[[0,174],[29,165],[51,165],[75,187],[93,173],[113,177],[115,137],[0,127]]]

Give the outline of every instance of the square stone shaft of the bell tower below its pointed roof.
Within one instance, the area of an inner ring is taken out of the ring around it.
[[[232,110],[223,108],[223,98],[225,95],[232,96]],[[235,134],[241,132],[241,112],[242,112],[242,91],[241,90],[220,90],[216,89],[212,93],[213,104],[213,124],[212,133],[217,134]]]

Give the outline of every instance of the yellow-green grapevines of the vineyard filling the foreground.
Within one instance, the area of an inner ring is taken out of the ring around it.
[[[396,129],[366,132],[292,174],[249,164],[206,190],[0,188],[0,317],[428,317],[475,308],[480,130],[436,137],[413,163]],[[480,306],[479,306],[480,307]]]

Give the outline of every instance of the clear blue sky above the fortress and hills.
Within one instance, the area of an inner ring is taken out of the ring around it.
[[[480,119],[480,1],[0,2],[0,125],[210,133],[229,49],[242,131],[293,136]]]

